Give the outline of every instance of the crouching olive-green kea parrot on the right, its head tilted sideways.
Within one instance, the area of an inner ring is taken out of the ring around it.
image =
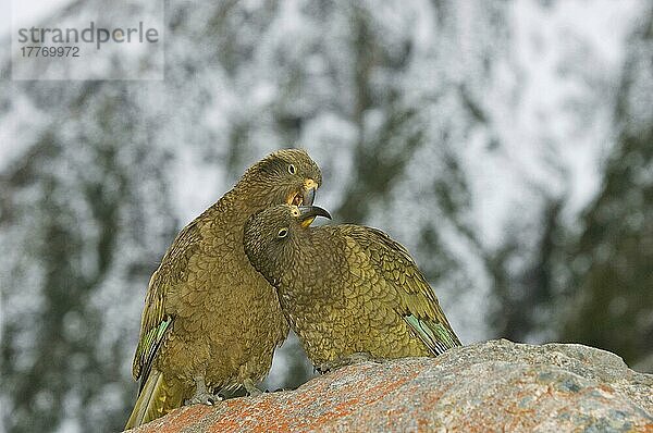
[[[372,359],[433,357],[460,346],[402,245],[360,225],[312,227],[315,206],[281,205],[245,225],[245,252],[320,372]]]

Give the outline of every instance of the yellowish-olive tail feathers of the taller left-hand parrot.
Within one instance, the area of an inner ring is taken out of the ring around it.
[[[143,425],[181,407],[183,392],[176,382],[165,381],[160,371],[152,369],[138,394],[125,430]]]

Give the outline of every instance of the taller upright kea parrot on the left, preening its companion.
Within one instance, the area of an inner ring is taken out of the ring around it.
[[[306,151],[279,150],[178,233],[147,289],[132,369],[140,389],[127,429],[184,403],[212,404],[213,392],[260,393],[255,383],[288,325],[276,290],[245,256],[243,227],[264,208],[311,205],[321,182]]]

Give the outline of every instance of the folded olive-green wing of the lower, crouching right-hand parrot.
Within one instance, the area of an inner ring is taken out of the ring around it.
[[[460,346],[435,293],[404,248],[380,230],[347,226],[348,235],[361,245],[375,270],[398,294],[397,312],[434,355]]]

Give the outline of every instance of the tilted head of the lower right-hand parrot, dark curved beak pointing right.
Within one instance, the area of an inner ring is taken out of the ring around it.
[[[298,239],[317,216],[331,220],[329,212],[317,206],[281,205],[255,213],[245,223],[245,253],[273,286],[280,272],[291,267]]]

